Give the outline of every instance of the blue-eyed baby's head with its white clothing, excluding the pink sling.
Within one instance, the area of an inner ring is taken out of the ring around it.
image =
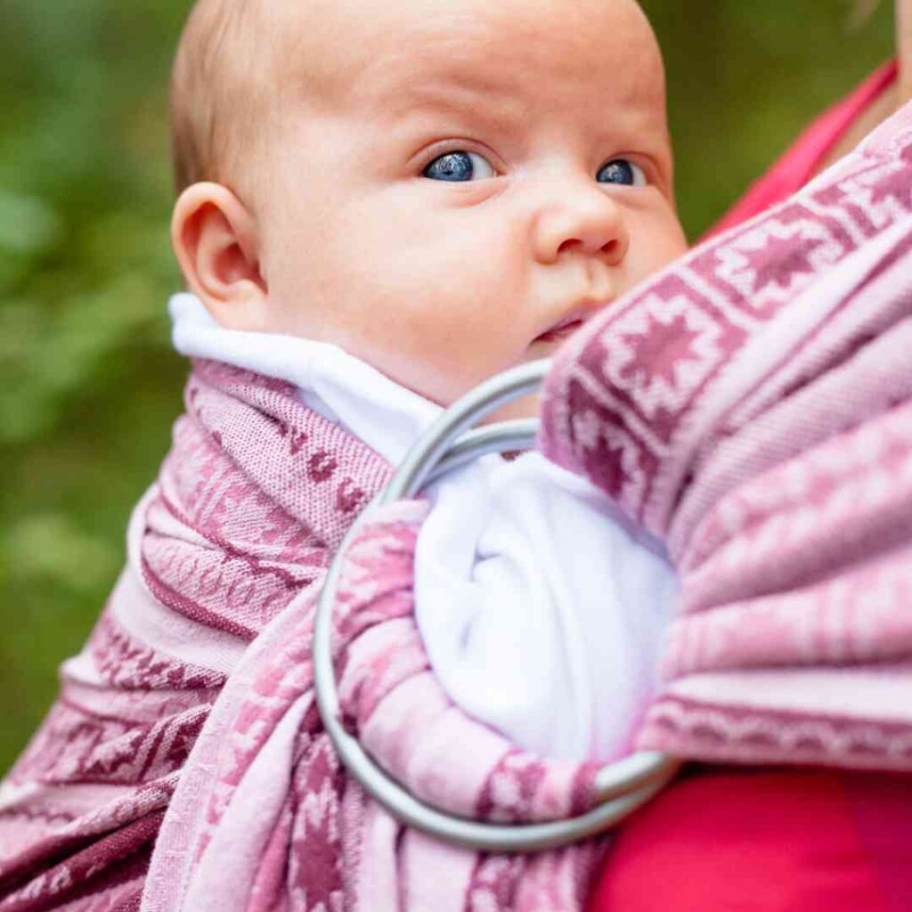
[[[295,383],[393,464],[685,250],[633,0],[202,0],[173,109],[177,347]],[[527,749],[623,751],[673,590],[656,546],[537,455],[434,499],[416,613],[451,698]]]

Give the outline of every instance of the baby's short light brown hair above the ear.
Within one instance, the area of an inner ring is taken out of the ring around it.
[[[199,0],[171,76],[171,140],[178,192],[198,181],[233,185],[271,109],[271,16],[266,0]]]

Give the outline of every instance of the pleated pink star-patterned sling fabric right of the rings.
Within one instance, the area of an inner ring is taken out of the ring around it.
[[[681,575],[638,743],[912,768],[912,106],[560,353],[547,455]]]

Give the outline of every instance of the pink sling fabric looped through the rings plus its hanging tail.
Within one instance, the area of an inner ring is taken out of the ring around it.
[[[349,545],[337,596],[342,717],[412,793],[453,814],[534,822],[593,806],[596,767],[545,762],[465,716],[414,620],[425,503]],[[264,630],[228,682],[162,826],[143,909],[581,909],[600,845],[476,855],[409,831],[340,770],[313,692],[315,597]]]

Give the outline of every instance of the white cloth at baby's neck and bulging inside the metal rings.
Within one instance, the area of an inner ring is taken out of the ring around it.
[[[341,348],[219,326],[171,299],[174,346],[294,384],[389,462],[440,415]],[[486,457],[432,489],[416,617],[451,699],[522,747],[623,753],[651,700],[676,579],[661,546],[589,482],[538,453]]]

